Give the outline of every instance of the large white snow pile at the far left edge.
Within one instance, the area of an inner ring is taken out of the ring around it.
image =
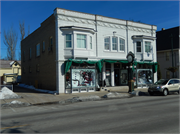
[[[21,98],[7,87],[3,87],[0,91],[0,99],[14,99]]]

